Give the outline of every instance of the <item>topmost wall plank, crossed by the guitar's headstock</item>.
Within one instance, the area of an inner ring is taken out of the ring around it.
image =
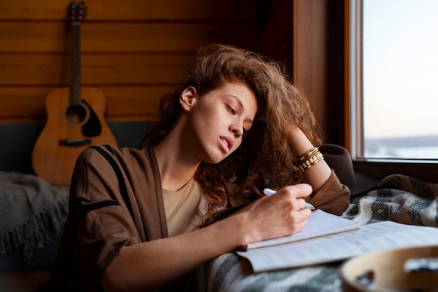
[[[2,0],[0,20],[64,20],[70,1]],[[87,0],[87,20],[253,21],[253,0]]]

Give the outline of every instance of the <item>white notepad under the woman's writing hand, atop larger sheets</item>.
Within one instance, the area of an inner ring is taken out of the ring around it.
[[[320,237],[327,234],[357,230],[358,228],[360,228],[360,224],[355,221],[326,213],[323,210],[316,210],[312,212],[306,227],[294,235],[253,242],[252,244],[243,246],[243,249],[258,249],[264,246],[297,242],[299,240]]]

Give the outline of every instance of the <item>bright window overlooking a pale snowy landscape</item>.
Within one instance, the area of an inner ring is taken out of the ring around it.
[[[437,162],[438,0],[351,0],[350,41],[353,158]]]

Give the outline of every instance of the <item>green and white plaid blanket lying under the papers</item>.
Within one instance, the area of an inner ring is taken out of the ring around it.
[[[395,221],[438,227],[438,184],[392,174],[376,190],[352,200],[342,215],[361,225]],[[341,292],[341,263],[276,272],[253,273],[250,264],[226,253],[198,270],[199,291],[334,291]]]

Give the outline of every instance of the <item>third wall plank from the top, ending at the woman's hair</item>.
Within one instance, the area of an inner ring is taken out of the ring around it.
[[[5,54],[3,54],[4,56]],[[81,56],[83,85],[174,83],[192,54],[96,53]],[[69,83],[69,55],[10,53],[0,67],[0,85]]]

